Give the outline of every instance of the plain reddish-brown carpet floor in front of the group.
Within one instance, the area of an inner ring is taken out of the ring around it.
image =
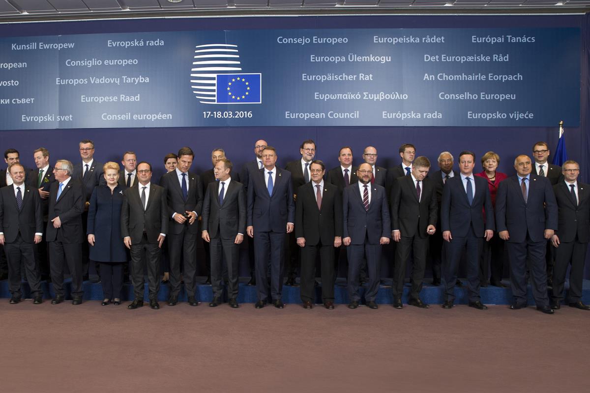
[[[0,302],[0,392],[586,392],[590,312]]]

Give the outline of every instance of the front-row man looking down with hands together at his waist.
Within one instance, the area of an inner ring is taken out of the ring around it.
[[[195,154],[190,147],[178,151],[178,167],[160,179],[166,189],[168,201],[168,254],[170,259],[170,298],[168,305],[178,303],[181,290],[181,257],[184,262],[184,282],[188,303],[198,306],[196,291],[196,237],[199,225],[195,223],[203,206],[203,191],[199,177],[189,172]]]

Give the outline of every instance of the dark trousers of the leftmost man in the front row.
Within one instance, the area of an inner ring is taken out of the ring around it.
[[[35,243],[27,243],[20,233],[12,243],[4,243],[8,263],[8,290],[16,298],[21,297],[21,266],[24,267],[31,295],[42,296],[41,275],[35,262]]]

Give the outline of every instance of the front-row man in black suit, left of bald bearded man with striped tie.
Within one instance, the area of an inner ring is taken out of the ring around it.
[[[326,166],[320,160],[309,166],[312,181],[297,190],[295,233],[301,247],[301,301],[311,309],[314,296],[316,256],[322,263],[322,301],[334,308],[334,250],[342,245],[342,195],[324,182]]]

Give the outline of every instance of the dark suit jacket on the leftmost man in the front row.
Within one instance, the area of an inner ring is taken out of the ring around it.
[[[0,232],[8,243],[17,240],[21,233],[22,240],[33,243],[35,233],[43,233],[43,214],[41,197],[36,188],[26,185],[21,187],[22,207],[18,210],[14,187],[0,189]]]

